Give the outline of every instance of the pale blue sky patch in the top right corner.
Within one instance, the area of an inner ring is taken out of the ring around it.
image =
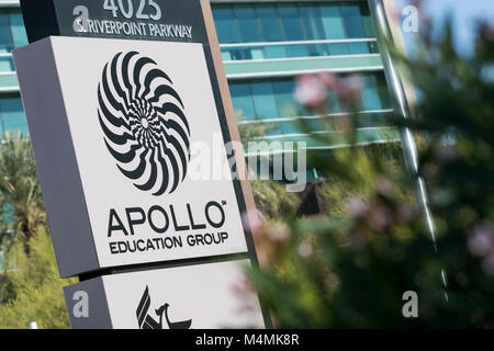
[[[494,25],[494,0],[423,0],[424,8],[434,23],[441,23],[447,16],[452,18],[456,44],[463,54],[473,48],[475,19],[486,19]],[[395,0],[398,11],[409,3],[409,0]],[[420,27],[418,26],[418,30]],[[407,49],[413,49],[417,34],[404,33]]]

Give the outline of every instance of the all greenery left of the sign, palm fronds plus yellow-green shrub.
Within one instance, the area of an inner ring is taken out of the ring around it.
[[[46,224],[30,138],[0,144],[0,328],[68,328],[63,286]]]

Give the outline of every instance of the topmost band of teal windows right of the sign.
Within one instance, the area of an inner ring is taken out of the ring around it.
[[[225,61],[378,53],[361,2],[215,4],[213,15]]]

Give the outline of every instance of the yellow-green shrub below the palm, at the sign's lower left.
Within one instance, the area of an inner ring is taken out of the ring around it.
[[[0,305],[0,328],[23,329],[31,321],[42,329],[69,328],[63,287],[77,279],[59,279],[52,239],[42,227],[27,241],[29,256],[24,245],[15,240],[5,257],[2,279],[11,296]]]

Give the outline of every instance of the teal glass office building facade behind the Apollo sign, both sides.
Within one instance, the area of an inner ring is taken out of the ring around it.
[[[293,95],[295,78],[316,71],[358,76],[362,86],[358,140],[395,138],[385,125],[391,103],[372,19],[366,0],[211,0],[222,57],[240,125],[263,124],[267,140],[306,141],[308,149],[345,145],[333,123],[345,111],[328,95],[326,115],[306,111]],[[18,0],[0,0],[0,132],[27,126],[12,63],[13,48],[27,44]],[[300,122],[308,126],[302,131]],[[330,143],[311,133],[330,133]],[[311,170],[310,178],[317,177]]]

